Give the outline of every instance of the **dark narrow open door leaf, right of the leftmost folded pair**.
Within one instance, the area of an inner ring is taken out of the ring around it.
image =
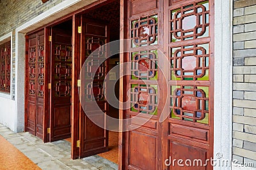
[[[51,29],[50,141],[71,137],[72,32]]]

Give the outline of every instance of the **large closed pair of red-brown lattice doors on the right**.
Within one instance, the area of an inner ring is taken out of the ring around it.
[[[212,169],[193,162],[213,157],[214,1],[129,0],[124,9],[125,118],[138,117],[131,129],[148,119],[126,132],[124,169]]]

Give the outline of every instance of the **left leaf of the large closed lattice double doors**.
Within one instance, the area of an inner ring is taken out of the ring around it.
[[[159,169],[159,2],[128,1],[127,9],[131,10],[126,14],[129,31],[125,34],[132,41],[127,46],[131,52],[127,55],[131,62],[127,73],[132,76],[127,77],[131,109],[125,111],[125,118],[132,118],[129,128],[133,130],[125,136],[125,169]],[[147,123],[140,125],[142,121]]]

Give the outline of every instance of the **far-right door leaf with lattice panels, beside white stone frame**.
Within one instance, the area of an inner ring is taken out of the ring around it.
[[[202,160],[213,156],[213,1],[170,1],[166,3],[168,40],[168,112],[164,130],[163,157]],[[182,19],[181,19],[182,18]],[[167,66],[167,65],[166,65]],[[166,167],[163,164],[164,167]],[[212,169],[177,164],[167,169]]]

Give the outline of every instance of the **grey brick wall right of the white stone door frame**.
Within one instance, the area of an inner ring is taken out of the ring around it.
[[[233,159],[256,167],[256,0],[234,0]]]

